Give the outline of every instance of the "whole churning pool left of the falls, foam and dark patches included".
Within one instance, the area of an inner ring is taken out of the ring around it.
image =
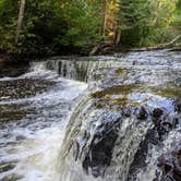
[[[0,180],[59,180],[64,128],[85,83],[33,63],[31,72],[0,80]]]

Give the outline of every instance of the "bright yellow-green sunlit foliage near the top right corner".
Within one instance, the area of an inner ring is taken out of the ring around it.
[[[153,3],[153,9],[156,9],[156,13],[153,13],[153,23],[150,26],[150,34],[146,37],[146,41],[155,44],[168,43],[173,39],[179,33],[173,26],[176,22],[176,4],[177,0],[157,0],[157,3]],[[145,43],[146,43],[145,41]],[[143,44],[147,46],[146,44]]]

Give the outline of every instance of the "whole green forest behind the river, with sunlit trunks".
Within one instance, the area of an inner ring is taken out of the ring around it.
[[[152,47],[180,34],[181,0],[0,0],[0,52],[16,57]]]

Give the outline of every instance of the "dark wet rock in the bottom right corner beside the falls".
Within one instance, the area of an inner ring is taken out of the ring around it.
[[[158,158],[156,178],[154,181],[181,180],[181,146],[176,150]]]

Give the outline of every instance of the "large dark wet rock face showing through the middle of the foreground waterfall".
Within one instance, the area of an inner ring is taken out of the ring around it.
[[[113,147],[118,138],[118,123],[119,120],[113,124],[112,122],[104,124],[102,130],[97,129],[89,152],[83,161],[86,173],[90,169],[94,177],[104,177],[107,167],[111,162]]]

